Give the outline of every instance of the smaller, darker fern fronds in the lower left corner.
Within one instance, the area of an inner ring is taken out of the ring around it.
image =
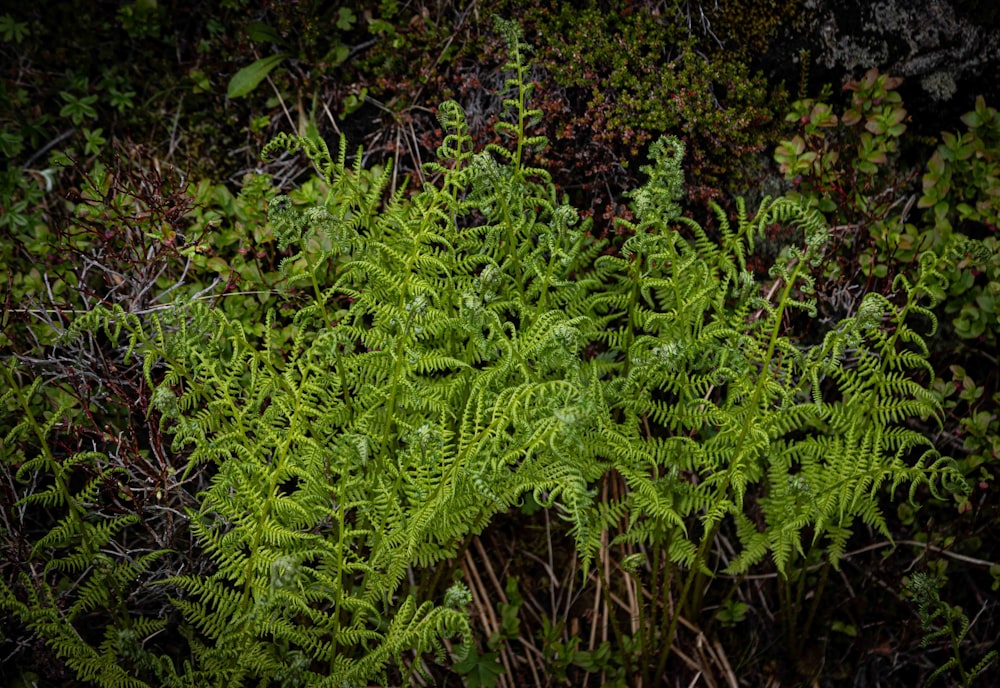
[[[7,429],[0,460],[5,473],[13,469],[15,480],[34,487],[6,506],[17,515],[14,522],[22,531],[5,529],[5,556],[13,558],[16,550],[9,545],[25,540],[26,522],[41,520],[47,530],[32,543],[28,565],[16,579],[0,580],[0,611],[44,638],[80,680],[98,686],[144,685],[118,661],[122,655],[140,665],[150,660],[139,639],[162,630],[165,622],[133,618],[128,598],[164,552],[114,546],[139,521],[134,514],[102,505],[106,486],[118,488],[121,469],[98,451],[60,456],[51,436],[68,408],[44,411],[38,402],[50,398],[43,378],[24,386],[26,371],[15,359],[2,363],[0,375],[5,387],[0,411],[14,414],[0,416]]]

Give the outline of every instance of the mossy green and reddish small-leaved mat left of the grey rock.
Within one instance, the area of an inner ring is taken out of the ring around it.
[[[662,133],[687,143],[694,196],[741,191],[759,171],[756,154],[783,94],[738,52],[712,50],[715,39],[689,28],[682,9],[520,4],[525,35],[538,43],[535,63],[551,80],[539,91],[554,142],[548,162],[573,171],[594,213],[611,210],[616,190],[639,181],[628,161]]]

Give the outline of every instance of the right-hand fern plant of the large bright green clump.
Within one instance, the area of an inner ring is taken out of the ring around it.
[[[602,529],[620,529],[612,544],[653,552],[653,589],[675,567],[686,571],[679,613],[696,615],[724,527],[742,547],[722,562],[726,573],[770,555],[787,576],[824,541],[836,566],[857,519],[890,537],[877,498],[883,486],[908,484],[910,499],[928,483],[964,488],[953,462],[905,425],[939,413],[917,382],[933,373],[911,324],[923,317],[934,325],[932,263],[918,282],[898,281],[902,305],[869,294],[856,314],[804,343],[794,325],[817,325],[812,271],[827,240],[820,215],[765,199],[749,218],[739,202],[734,228],[716,207],[716,243],[679,216],[682,146],[667,141],[652,152],[658,164],[634,194],[639,221],[622,223],[632,232],[624,255],[597,261],[607,286],[593,304],[614,358],[604,366],[614,422],[603,437],[628,489],[601,505],[584,551],[599,546]],[[777,259],[762,293],[746,258],[774,223],[797,226],[802,243]],[[660,613],[646,619],[644,639],[658,648],[657,675],[678,619]]]

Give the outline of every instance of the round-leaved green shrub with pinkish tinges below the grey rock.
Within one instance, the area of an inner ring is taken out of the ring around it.
[[[869,70],[845,86],[851,101],[839,116],[827,102],[829,92],[796,101],[786,119],[798,123],[799,133],[777,146],[774,159],[795,185],[790,196],[819,209],[836,228],[831,283],[887,285],[891,275],[933,252],[942,276],[933,288],[955,333],[992,344],[1000,303],[993,236],[1000,120],[978,99],[963,117],[966,133],[942,134],[923,174],[923,193],[914,194],[920,172],[900,162],[907,117],[896,91],[900,82]],[[917,198],[916,206],[928,209],[923,218],[911,218]]]

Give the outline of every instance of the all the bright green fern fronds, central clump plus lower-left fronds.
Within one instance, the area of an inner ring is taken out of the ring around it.
[[[307,207],[269,202],[288,255],[284,303],[259,333],[191,298],[141,314],[94,309],[74,323],[70,337],[102,332],[126,362],[141,362],[150,423],[186,457],[182,484],[207,480],[187,518],[193,556],[210,563],[155,580],[184,650],[154,653],[162,620],[122,613],[124,593],[109,590],[166,554],[109,561],[98,548],[131,520],[92,524],[82,504],[94,488],[74,495],[66,465],[45,451],[4,457],[53,481],[21,500],[62,514],[36,550],[76,546],[52,571],[89,557],[95,582],[76,591],[74,608],[106,608],[114,621],[96,643],[74,635],[81,619],[47,606],[45,581],[24,582],[27,601],[0,588],[0,604],[81,680],[385,684],[433,658],[486,685],[496,676],[489,655],[467,659],[467,591],[421,599],[407,573],[455,557],[529,494],[570,524],[585,572],[606,530],[649,545],[658,599],[674,573],[683,578],[683,609],[670,615],[656,602],[641,635],[620,639],[626,675],[639,662],[659,677],[678,615],[697,612],[699,581],[716,568],[719,533],[738,546],[721,568],[742,573],[770,556],[788,574],[806,548],[836,565],[857,519],[888,536],[882,488],[906,485],[911,500],[922,485],[962,489],[952,463],[907,423],[938,412],[917,381],[927,351],[911,322],[934,322],[930,262],[898,281],[901,305],[872,294],[849,317],[820,323],[822,216],[766,200],[755,216],[740,204],[731,224],[716,208],[714,240],[680,215],[684,149],[669,137],[652,147],[621,253],[598,257],[604,245],[527,163],[545,144],[528,135],[542,117],[528,103],[528,49],[516,25],[497,26],[511,54],[498,127],[509,148],[474,152],[462,109],[446,102],[447,136],[427,169],[439,181],[386,198],[390,170],[364,175],[361,156],[349,168],[343,140],[336,156],[318,138],[267,147],[304,153],[326,191]],[[802,241],[762,285],[748,257],[772,224],[797,228]],[[801,337],[802,323],[817,343]],[[30,415],[17,425],[40,439],[50,429]],[[99,465],[70,461],[84,460]],[[595,484],[612,472],[627,489],[596,500]],[[628,563],[629,575],[650,569]],[[450,638],[461,638],[453,652]],[[610,656],[601,646],[573,661],[617,671]]]

